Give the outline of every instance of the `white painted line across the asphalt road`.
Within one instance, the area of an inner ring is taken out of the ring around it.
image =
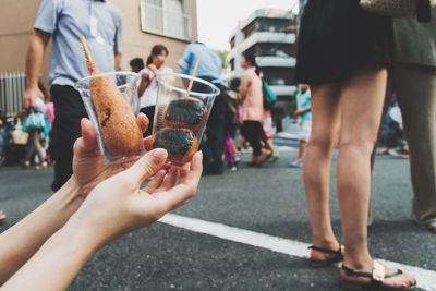
[[[173,214],[166,215],[159,221],[173,227],[187,229],[198,233],[205,233],[228,241],[239,242],[243,244],[249,244],[270,250],[277,253],[294,257],[301,257],[301,258],[307,257],[308,244],[299,241],[287,240],[245,229],[229,227],[222,223],[216,223]],[[436,271],[389,260],[380,259],[380,262],[386,265],[400,268],[404,271],[415,275],[419,288],[428,291],[436,291]]]

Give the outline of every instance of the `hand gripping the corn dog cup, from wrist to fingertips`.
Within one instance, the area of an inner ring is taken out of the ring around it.
[[[144,113],[137,117],[137,124],[143,131],[148,126],[148,119]],[[88,119],[82,119],[82,137],[74,143],[73,177],[77,185],[77,194],[86,195],[101,181],[126,169],[133,161],[123,163],[106,163],[97,145],[97,134]],[[149,148],[150,138],[144,140],[144,145]]]

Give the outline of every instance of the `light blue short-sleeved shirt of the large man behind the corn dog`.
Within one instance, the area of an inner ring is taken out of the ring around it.
[[[73,86],[89,75],[82,35],[100,71],[114,71],[114,54],[121,51],[121,13],[111,0],[43,0],[34,28],[53,37],[50,86]]]

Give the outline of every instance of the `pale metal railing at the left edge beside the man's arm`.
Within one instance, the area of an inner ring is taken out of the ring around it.
[[[16,114],[23,107],[23,95],[26,88],[26,74],[0,73],[0,110],[7,114]]]

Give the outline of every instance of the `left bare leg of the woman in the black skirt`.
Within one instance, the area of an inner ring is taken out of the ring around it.
[[[313,244],[338,250],[339,243],[331,229],[329,209],[329,180],[334,149],[340,128],[339,86],[335,84],[312,87],[312,135],[304,163],[304,184],[311,216]],[[325,255],[312,251],[315,259]]]

